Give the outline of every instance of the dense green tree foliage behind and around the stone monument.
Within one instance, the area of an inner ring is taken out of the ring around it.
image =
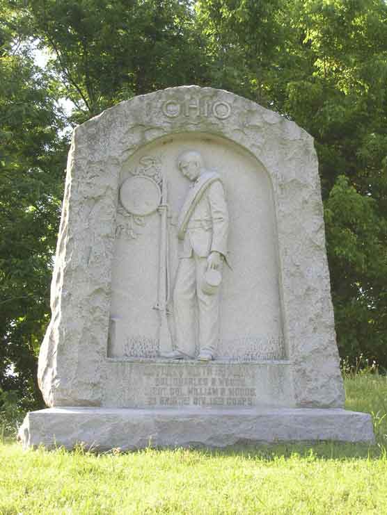
[[[0,0],[0,410],[42,404],[69,128],[172,85],[231,90],[312,134],[340,354],[386,368],[386,79],[383,0]]]

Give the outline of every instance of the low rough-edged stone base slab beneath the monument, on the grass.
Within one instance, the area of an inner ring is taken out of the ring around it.
[[[135,450],[226,447],[237,443],[322,441],[374,443],[369,414],[344,409],[107,409],[31,411],[19,429],[24,448],[45,445]]]

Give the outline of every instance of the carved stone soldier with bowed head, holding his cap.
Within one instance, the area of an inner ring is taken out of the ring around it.
[[[221,277],[227,256],[228,209],[221,177],[205,169],[199,152],[184,152],[177,162],[192,181],[177,223],[182,251],[173,292],[176,349],[166,357],[195,357],[196,313],[201,361],[210,361],[219,340],[219,287],[207,278]]]

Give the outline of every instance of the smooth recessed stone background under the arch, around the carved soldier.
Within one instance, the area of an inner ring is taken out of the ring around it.
[[[200,152],[207,169],[220,174],[230,215],[230,266],[223,270],[216,357],[231,361],[284,359],[274,195],[269,174],[257,158],[226,138],[180,133],[158,138],[135,152],[123,165],[120,186],[139,174],[163,174],[168,180],[168,282],[172,292],[178,262],[177,215],[190,187],[177,170],[177,157],[188,149]],[[146,188],[147,181],[144,185]],[[108,357],[158,356],[159,317],[152,307],[157,296],[159,231],[159,213],[129,215],[118,202]],[[173,334],[172,311],[168,319]]]

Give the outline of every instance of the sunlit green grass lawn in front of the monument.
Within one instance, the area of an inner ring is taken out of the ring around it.
[[[0,444],[0,514],[387,514],[387,378],[345,381],[377,445],[93,455]],[[384,418],[383,418],[384,417]]]

